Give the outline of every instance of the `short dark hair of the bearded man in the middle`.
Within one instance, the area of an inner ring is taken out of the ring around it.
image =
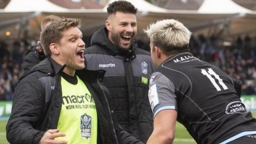
[[[116,12],[132,13],[136,14],[138,9],[134,7],[130,2],[127,1],[115,1],[110,3],[107,8],[108,15],[116,14]]]

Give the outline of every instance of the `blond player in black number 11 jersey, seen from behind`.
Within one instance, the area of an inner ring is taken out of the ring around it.
[[[167,19],[145,32],[157,67],[150,78],[154,131],[147,143],[172,143],[177,120],[197,143],[255,143],[256,119],[227,74],[188,52],[190,31]]]

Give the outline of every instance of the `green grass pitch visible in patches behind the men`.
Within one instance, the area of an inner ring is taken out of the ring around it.
[[[256,117],[256,113],[252,113]],[[6,140],[5,126],[7,121],[0,121],[0,141],[8,144]],[[180,123],[176,124],[174,144],[196,144],[195,140],[188,134],[187,130]]]

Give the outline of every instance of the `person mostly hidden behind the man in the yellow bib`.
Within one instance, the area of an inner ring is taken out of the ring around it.
[[[47,25],[49,25],[53,21],[60,20],[60,17],[56,15],[48,15],[41,22],[41,30],[43,30]],[[33,66],[35,66],[40,61],[44,60],[46,57],[44,52],[41,49],[38,49],[41,46],[41,43],[38,41],[37,45],[32,46],[25,54],[22,61],[22,68],[24,69],[24,73],[30,70]]]

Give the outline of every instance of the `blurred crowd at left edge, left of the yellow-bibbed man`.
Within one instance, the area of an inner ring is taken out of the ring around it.
[[[27,41],[0,41],[0,100],[12,100],[18,78],[21,76],[21,62],[28,50]]]

